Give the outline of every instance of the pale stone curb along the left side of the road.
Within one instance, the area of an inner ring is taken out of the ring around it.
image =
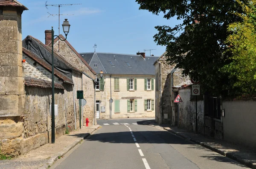
[[[91,135],[93,132],[95,132],[96,130],[98,130],[101,126],[97,127],[96,129],[93,129],[90,133],[86,133],[82,138],[80,138],[79,140],[74,141],[72,144],[70,144],[70,146],[67,146],[65,149],[63,149],[61,152],[57,152],[55,153],[55,155],[53,155],[49,161],[47,162],[47,164],[44,164],[43,166],[41,166],[38,169],[48,169],[48,166],[52,166],[52,164],[58,160],[58,157],[65,155],[67,152],[69,152],[71,149],[73,149],[77,144],[79,144],[81,141],[83,141],[85,138],[87,138],[89,135]]]

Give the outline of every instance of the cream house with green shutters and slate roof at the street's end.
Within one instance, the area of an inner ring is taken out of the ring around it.
[[[154,66],[157,57],[81,53],[97,73],[96,117],[154,117]],[[103,77],[99,76],[103,72]]]

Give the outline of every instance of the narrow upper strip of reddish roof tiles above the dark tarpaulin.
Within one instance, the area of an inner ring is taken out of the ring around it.
[[[44,43],[42,43],[40,40],[28,35],[27,37],[31,37],[33,39],[35,39],[35,41],[37,41],[41,46],[43,46],[45,49],[47,49],[47,51],[49,51],[50,53],[52,53],[52,47],[49,47],[47,45],[45,45]],[[64,62],[68,67],[72,68],[73,70],[79,71],[81,72],[82,70],[79,70],[79,68],[76,68],[75,65],[71,64],[70,62],[68,62],[63,56],[61,56],[57,51],[53,51],[53,54],[55,57],[57,57],[58,59],[60,59],[62,62]]]

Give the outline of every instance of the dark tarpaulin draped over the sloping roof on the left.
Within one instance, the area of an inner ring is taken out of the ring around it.
[[[44,46],[39,44],[32,37],[27,36],[22,41],[22,46],[29,51],[32,51],[34,54],[39,56],[41,59],[44,59],[50,65],[52,65],[52,53],[49,52]],[[58,69],[64,75],[70,77],[72,79],[72,70],[68,67],[64,62],[54,56],[54,68]]]

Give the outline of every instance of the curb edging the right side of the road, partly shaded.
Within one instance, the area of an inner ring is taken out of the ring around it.
[[[156,127],[156,126],[154,126],[154,125],[152,125],[152,124],[147,124],[147,123],[143,123],[143,124],[144,124],[144,125],[151,126],[151,127]],[[205,143],[205,142],[200,142],[200,141],[198,141],[198,140],[195,140],[194,138],[191,138],[191,137],[189,137],[188,135],[185,135],[185,134],[180,133],[180,132],[176,132],[175,130],[170,130],[170,129],[167,129],[167,128],[165,128],[165,127],[160,127],[160,126],[159,126],[159,127],[156,127],[156,128],[160,128],[160,129],[163,129],[163,130],[172,132],[172,133],[174,133],[175,135],[179,135],[179,136],[182,137],[182,138],[188,139],[189,141],[192,141],[192,142],[194,142],[194,143],[196,143],[196,144],[199,144],[199,145],[201,145],[201,146],[204,146],[204,147],[207,148],[207,149],[210,149],[210,150],[212,150],[212,151],[214,151],[214,152],[217,152],[217,153],[219,153],[219,154],[221,154],[221,155],[223,155],[223,156],[226,156],[226,157],[228,157],[228,158],[231,158],[232,160],[235,160],[235,161],[237,161],[237,162],[239,162],[239,163],[241,163],[241,164],[244,164],[245,166],[248,166],[248,167],[250,167],[250,168],[252,168],[252,169],[256,169],[256,163],[253,163],[253,162],[251,162],[251,161],[249,161],[249,160],[245,160],[245,159],[241,158],[239,155],[236,155],[236,153],[234,153],[234,152],[225,152],[225,151],[223,151],[223,150],[221,150],[221,149],[215,148],[214,146],[212,146],[212,145],[210,145],[210,144],[207,144],[207,143]]]

